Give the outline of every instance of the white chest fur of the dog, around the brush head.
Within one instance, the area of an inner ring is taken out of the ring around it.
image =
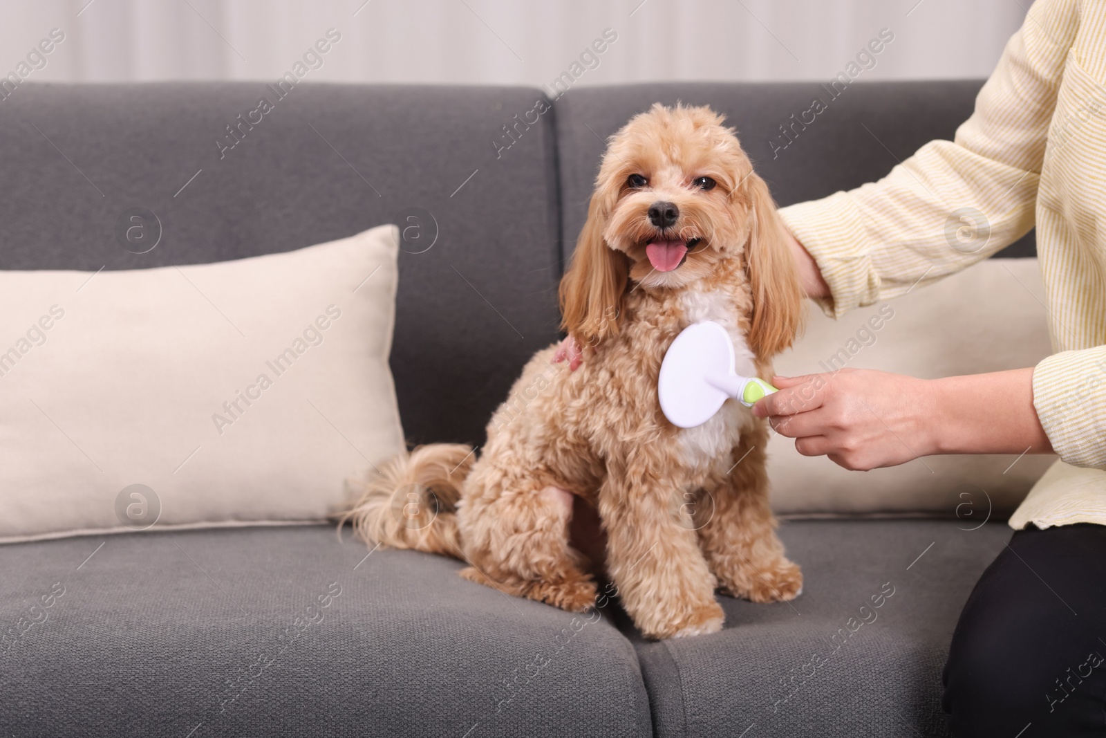
[[[734,371],[742,376],[755,376],[757,367],[745,336],[738,330],[737,305],[732,295],[722,290],[687,290],[680,295],[686,325],[713,321],[726,329],[733,343]],[[691,469],[706,470],[729,465],[729,453],[752,424],[752,412],[735,399],[728,399],[712,418],[695,428],[679,433],[685,464]]]

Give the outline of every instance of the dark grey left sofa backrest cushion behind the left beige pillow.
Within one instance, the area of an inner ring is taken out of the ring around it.
[[[229,138],[239,114],[248,124],[262,96],[273,110],[220,158],[216,139]],[[279,100],[262,83],[20,85],[0,111],[0,269],[239,259],[422,208],[439,235],[399,260],[392,367],[404,430],[418,443],[481,443],[522,365],[556,337],[553,124],[541,116],[498,159],[491,144],[540,96],[301,83]],[[134,207],[161,222],[148,253],[116,241],[119,215]]]

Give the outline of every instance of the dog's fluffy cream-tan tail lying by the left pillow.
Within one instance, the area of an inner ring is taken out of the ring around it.
[[[354,533],[371,545],[463,559],[456,510],[472,462],[472,447],[465,444],[417,446],[390,459],[355,482],[361,499],[342,516],[338,530],[351,520]]]

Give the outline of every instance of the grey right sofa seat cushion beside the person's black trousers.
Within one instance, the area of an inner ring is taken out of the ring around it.
[[[719,634],[662,643],[632,636],[655,735],[946,735],[941,669],[952,630],[1012,534],[1001,523],[977,526],[784,523],[780,534],[805,578],[792,603],[722,596]]]

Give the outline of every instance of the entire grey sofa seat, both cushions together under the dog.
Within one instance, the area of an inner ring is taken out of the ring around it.
[[[651,715],[657,736],[940,736],[953,624],[1011,534],[972,527],[784,522],[804,593],[720,596],[722,633],[664,643],[325,527],[0,547],[0,729],[645,736]]]

